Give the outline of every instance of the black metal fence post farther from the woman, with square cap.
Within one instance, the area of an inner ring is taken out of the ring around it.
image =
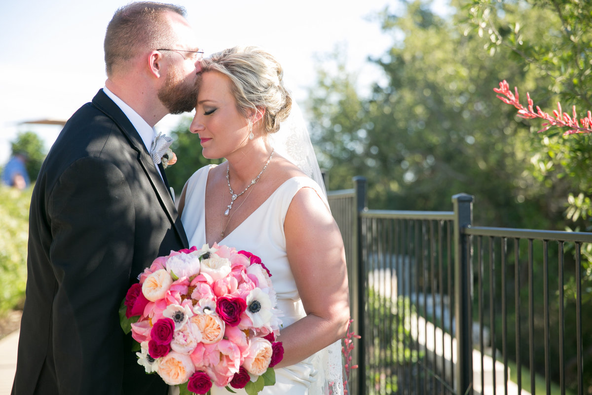
[[[452,197],[454,207],[455,244],[455,321],[456,321],[456,394],[472,393],[472,278],[468,252],[468,239],[462,229],[473,221],[473,197],[456,194]]]

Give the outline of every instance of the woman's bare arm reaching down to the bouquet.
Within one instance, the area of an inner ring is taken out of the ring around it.
[[[307,313],[281,330],[284,367],[342,338],[349,322],[348,275],[339,228],[311,188],[295,195],[284,223],[290,268]]]

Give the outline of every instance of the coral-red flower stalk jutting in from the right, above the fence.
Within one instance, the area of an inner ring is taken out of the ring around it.
[[[514,86],[513,94],[510,91],[510,86],[508,85],[505,79],[504,81],[500,82],[499,88],[494,88],[493,90],[494,92],[500,94],[497,95],[498,99],[500,99],[504,103],[511,104],[518,109],[519,117],[526,119],[542,118],[543,120],[546,120],[546,122],[542,124],[543,129],[540,129],[539,133],[541,131],[546,131],[553,126],[569,128],[567,131],[564,132],[564,135],[592,132],[592,113],[590,113],[590,111],[588,111],[587,117],[581,118],[580,121],[578,121],[578,115],[575,112],[575,105],[573,108],[573,115],[570,116],[570,114],[562,112],[561,103],[557,102],[557,110],[553,111],[554,116],[540,110],[539,106],[536,106],[535,113],[534,104],[532,99],[530,98],[530,94],[526,93],[526,97],[528,99],[528,108],[526,108],[522,104],[520,104],[518,97],[518,88]]]

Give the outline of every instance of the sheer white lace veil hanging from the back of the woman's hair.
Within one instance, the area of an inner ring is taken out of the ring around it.
[[[292,102],[288,118],[282,122],[276,133],[269,134],[268,142],[275,152],[294,163],[304,174],[314,179],[327,197],[323,175],[314,154],[308,128],[300,107]],[[318,367],[318,379],[311,388],[311,394],[343,395],[342,343],[332,345],[313,355],[313,365]]]

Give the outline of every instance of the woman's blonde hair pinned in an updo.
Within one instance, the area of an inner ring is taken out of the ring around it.
[[[249,110],[265,109],[263,134],[275,133],[292,107],[284,87],[282,66],[274,56],[258,47],[233,47],[201,61],[202,72],[217,71],[231,81],[237,108],[245,117]]]

